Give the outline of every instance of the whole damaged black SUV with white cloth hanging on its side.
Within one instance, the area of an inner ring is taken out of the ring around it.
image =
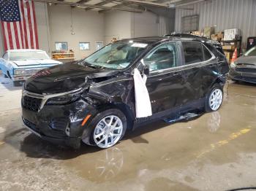
[[[152,116],[136,118],[134,69],[147,75]],[[221,46],[198,36],[124,39],[53,66],[23,87],[23,122],[42,139],[108,148],[127,129],[222,104],[229,70]]]

